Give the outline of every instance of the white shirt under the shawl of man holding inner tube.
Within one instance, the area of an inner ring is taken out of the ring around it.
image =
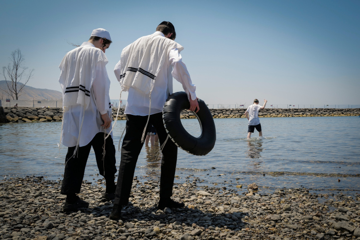
[[[163,37],[164,34],[160,33]],[[120,81],[120,66],[121,59],[116,64],[114,73],[118,81]],[[188,77],[186,77],[188,76]],[[182,84],[182,88],[192,100],[196,99],[196,86],[192,84],[186,69],[186,65],[182,62],[181,55],[177,48],[173,48],[169,53],[169,59],[159,71],[153,91],[151,93],[151,110],[150,114],[155,114],[163,111],[166,99],[173,93],[173,77]],[[127,98],[125,114],[147,116],[149,115],[149,94],[130,87]]]

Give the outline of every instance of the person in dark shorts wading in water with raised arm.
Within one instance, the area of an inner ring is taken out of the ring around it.
[[[264,99],[264,105],[259,105],[259,100],[255,99],[254,104],[250,105],[245,112],[245,117],[249,120],[248,127],[248,139],[250,139],[251,134],[254,133],[254,129],[259,132],[259,137],[263,137],[263,132],[261,130],[261,124],[259,119],[259,111],[264,109],[268,100]]]

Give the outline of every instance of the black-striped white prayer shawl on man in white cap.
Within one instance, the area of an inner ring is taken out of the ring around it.
[[[69,64],[71,62],[76,64]],[[105,54],[89,42],[66,54],[59,66],[63,107],[81,105],[87,109],[90,103],[90,88],[96,78],[95,67],[97,64],[105,67],[107,63]],[[107,77],[105,74],[104,79]]]

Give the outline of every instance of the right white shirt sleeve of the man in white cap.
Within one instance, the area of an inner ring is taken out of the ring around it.
[[[105,114],[108,110],[107,95],[106,92],[106,71],[105,66],[102,63],[96,65],[96,77],[92,82],[92,91],[97,106],[97,110],[100,114]]]

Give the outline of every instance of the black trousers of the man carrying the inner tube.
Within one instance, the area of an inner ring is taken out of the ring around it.
[[[144,145],[144,143],[141,143],[141,137],[147,119],[148,116],[126,115],[126,133],[122,141],[121,161],[119,175],[117,177],[114,204],[124,206],[129,202],[136,162]],[[163,113],[160,112],[150,115],[148,126],[151,126],[151,124],[155,127],[156,132],[159,135],[160,145],[162,145],[168,136],[163,123]],[[173,195],[178,147],[169,138],[162,153],[160,197],[167,198]]]

